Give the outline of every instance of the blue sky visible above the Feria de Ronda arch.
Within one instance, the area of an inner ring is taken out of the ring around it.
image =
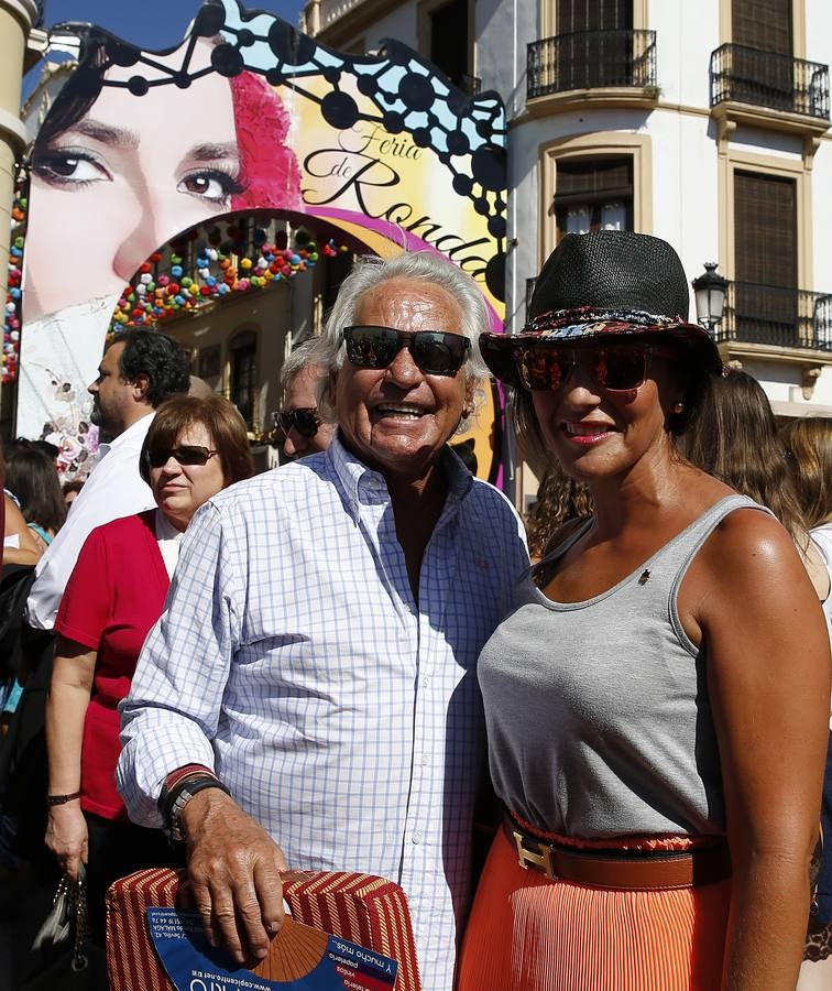
[[[45,0],[44,24],[88,21],[143,48],[169,48],[182,41],[200,0]],[[303,0],[249,0],[297,25]]]

